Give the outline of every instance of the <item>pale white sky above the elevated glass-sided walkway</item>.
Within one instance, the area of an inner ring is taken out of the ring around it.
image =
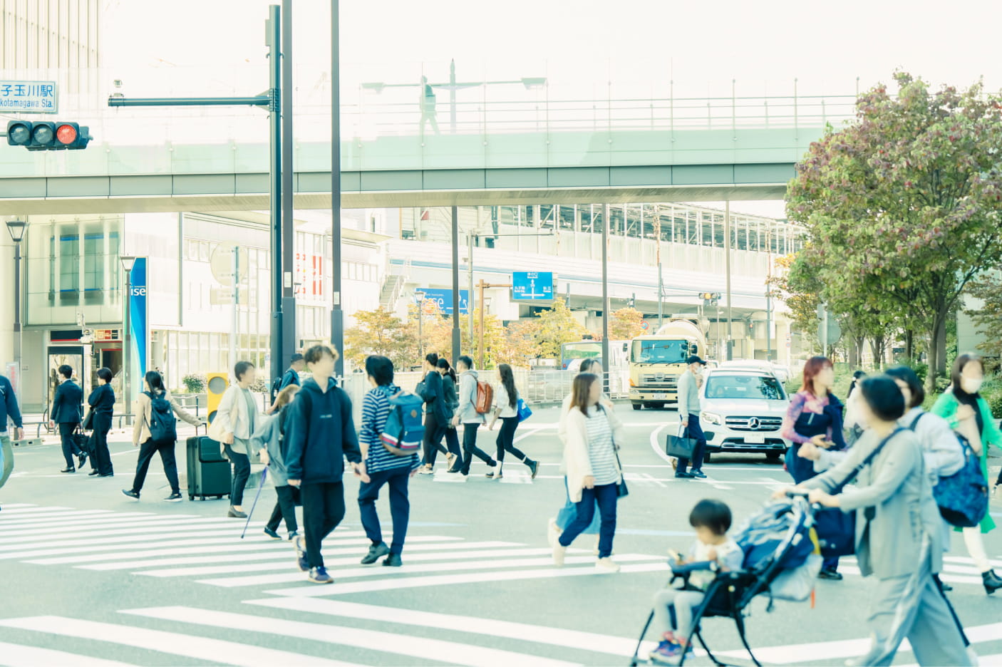
[[[330,3],[292,1],[294,60],[308,72],[297,85],[309,86],[330,66]],[[269,2],[104,2],[111,70],[265,71]],[[343,0],[339,16],[343,87],[448,76],[455,59],[460,80],[547,76],[553,89],[611,83],[624,95],[667,96],[670,81],[675,96],[781,95],[795,78],[802,95],[848,94],[898,68],[934,85],[983,77],[1002,88],[998,0]],[[766,212],[753,207],[741,202]]]

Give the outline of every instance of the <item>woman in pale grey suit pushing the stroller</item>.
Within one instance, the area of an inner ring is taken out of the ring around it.
[[[796,487],[808,491],[812,503],[856,512],[860,570],[877,581],[871,586],[870,651],[851,664],[890,665],[907,637],[920,665],[970,665],[934,577],[943,567],[942,521],[919,440],[898,424],[905,399],[888,376],[868,378],[859,391],[860,418],[870,429],[835,468]],[[855,486],[830,493],[856,470]]]

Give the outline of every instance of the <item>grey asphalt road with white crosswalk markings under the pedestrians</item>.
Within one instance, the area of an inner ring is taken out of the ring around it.
[[[262,534],[275,500],[267,486],[241,541],[226,501],[161,502],[158,460],[142,501],[125,499],[135,451],[123,435],[112,439],[114,478],[60,474],[51,440],[19,448],[0,490],[0,665],[626,665],[667,580],[666,550],[692,540],[692,505],[724,500],[740,522],[789,478],[764,456],[716,456],[708,480],[676,481],[659,453],[676,414],[620,410],[630,494],[619,504],[616,575],[595,574],[586,537],[562,570],[549,559],[546,523],[564,496],[555,410],[537,410],[516,434],[543,463],[534,481],[512,462],[501,482],[479,462],[465,482],[444,472],[412,480],[399,570],[358,564],[367,541],[348,479],[348,516],[325,547],[333,586],[308,583],[289,544]],[[493,439],[480,434],[481,446]],[[389,538],[385,498],[379,507]],[[992,510],[1002,518],[998,501]],[[1002,572],[1002,531],[987,544]],[[1002,665],[1002,594],[985,595],[959,536],[948,563],[981,664]],[[854,566],[843,563],[843,582],[818,583],[814,608],[754,606],[748,638],[763,663],[841,665],[863,652],[869,586]],[[750,664],[729,621],[705,621],[704,635],[720,657]],[[913,661],[903,650],[896,664]]]

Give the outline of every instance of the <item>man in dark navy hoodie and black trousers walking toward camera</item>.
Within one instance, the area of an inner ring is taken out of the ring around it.
[[[352,401],[337,386],[334,364],[338,353],[314,346],[304,356],[313,378],[303,384],[289,416],[289,484],[301,488],[305,536],[296,539],[300,569],[315,584],[333,584],[321,545],[345,518],[342,474],[347,457],[355,474],[369,482],[352,419]]]

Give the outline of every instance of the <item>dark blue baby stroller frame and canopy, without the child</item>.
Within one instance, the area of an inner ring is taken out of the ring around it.
[[[694,636],[713,664],[719,667],[726,665],[709,650],[700,626],[704,618],[730,618],[752,661],[762,667],[744,635],[747,607],[759,595],[769,596],[767,611],[772,611],[774,600],[804,602],[811,597],[822,565],[819,547],[812,538],[813,526],[811,506],[801,497],[770,503],[741,525],[735,531],[734,540],[744,552],[743,568],[720,572],[709,584],[702,604],[692,612],[692,631],[686,637],[686,644],[691,645]],[[669,562],[668,565],[671,567],[668,585],[680,581],[682,587],[688,586],[691,573],[716,568],[716,564],[710,562],[685,565]],[[653,618],[654,612],[651,611],[633,651],[630,667],[636,667],[641,662],[637,656]],[[679,665],[685,663],[685,657],[681,658]]]

